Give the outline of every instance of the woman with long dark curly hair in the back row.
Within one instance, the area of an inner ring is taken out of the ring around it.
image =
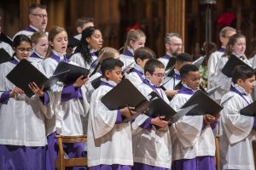
[[[102,48],[102,32],[95,26],[89,26],[82,31],[81,43],[70,58],[73,62],[86,69],[95,67],[97,52]]]

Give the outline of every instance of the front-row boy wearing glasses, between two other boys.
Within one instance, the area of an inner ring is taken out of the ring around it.
[[[138,87],[144,96],[155,92],[169,102],[165,92],[159,88],[165,77],[165,65],[157,59],[149,59],[144,66],[145,79]],[[133,159],[135,170],[170,169],[172,163],[172,145],[168,122],[164,117],[151,118],[139,115],[132,122]],[[162,127],[156,129],[154,126]]]

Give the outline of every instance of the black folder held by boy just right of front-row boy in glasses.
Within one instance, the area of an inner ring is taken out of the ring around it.
[[[195,94],[183,105],[186,108],[190,105],[196,105],[194,109],[187,113],[187,116],[199,116],[210,114],[215,116],[223,109],[223,106],[218,105],[213,99],[201,90],[197,90]]]

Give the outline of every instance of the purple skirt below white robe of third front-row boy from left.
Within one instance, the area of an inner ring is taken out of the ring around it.
[[[216,170],[213,156],[198,156],[172,162],[172,170]]]

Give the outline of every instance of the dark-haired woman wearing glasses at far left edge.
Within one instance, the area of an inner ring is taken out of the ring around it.
[[[46,106],[39,97],[44,92],[32,83],[29,86],[36,95],[28,98],[6,78],[20,60],[29,58],[32,42],[21,34],[15,37],[13,48],[12,59],[0,65],[0,169],[43,170]]]

